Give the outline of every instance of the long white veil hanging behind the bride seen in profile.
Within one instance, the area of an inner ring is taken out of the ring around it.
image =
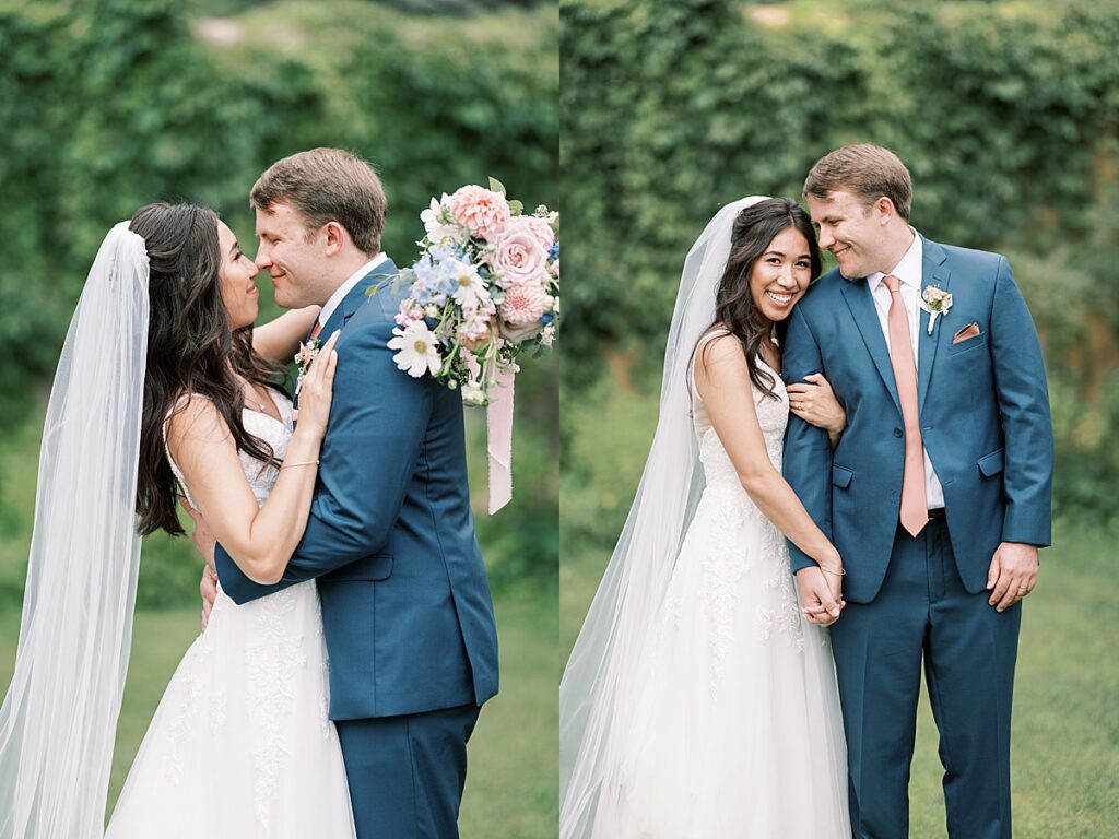
[[[0,709],[0,839],[100,839],[140,567],[148,256],[97,252],[43,430],[16,671]]]

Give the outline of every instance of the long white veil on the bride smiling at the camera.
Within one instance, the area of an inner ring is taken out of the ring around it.
[[[765,196],[723,207],[688,252],[665,348],[660,417],[626,527],[599,585],[560,686],[560,836],[592,836],[614,727],[626,717],[619,690],[632,684],[641,648],[671,577],[703,489],[692,425],[688,366],[715,319],[715,295],[734,220]]]

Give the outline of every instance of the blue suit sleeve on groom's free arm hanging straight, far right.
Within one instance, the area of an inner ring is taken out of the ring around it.
[[[999,257],[990,356],[1003,422],[1003,541],[1052,541],[1053,421],[1041,342],[1006,257]]]

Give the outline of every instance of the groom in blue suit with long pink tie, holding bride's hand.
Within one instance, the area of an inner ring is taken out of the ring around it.
[[[852,828],[909,836],[923,663],[949,835],[1009,837],[1019,602],[1050,544],[1037,333],[1003,256],[910,227],[910,173],[888,150],[831,152],[805,196],[839,266],[793,310],[783,375],[822,373],[847,428],[833,452],[822,430],[791,417],[784,474],[847,572],[831,641]],[[811,565],[790,552],[793,571]]]

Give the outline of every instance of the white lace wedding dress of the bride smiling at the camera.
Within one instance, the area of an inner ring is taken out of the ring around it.
[[[780,471],[789,403],[771,375],[779,400],[754,387],[754,403]],[[784,539],[698,394],[692,406],[706,487],[642,666],[620,688],[593,836],[848,839],[828,633],[800,612]]]

